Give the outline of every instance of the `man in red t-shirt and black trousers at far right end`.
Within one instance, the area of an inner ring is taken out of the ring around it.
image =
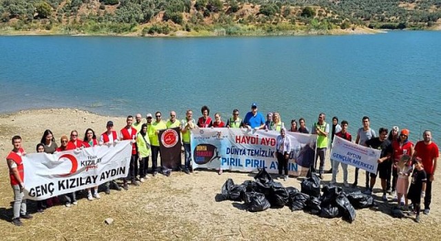
[[[438,145],[432,141],[432,134],[429,130],[425,130],[422,134],[424,140],[418,141],[413,151],[412,160],[417,157],[421,158],[424,171],[427,174],[426,193],[424,196],[424,214],[430,213],[430,203],[432,199],[432,182],[435,180],[436,161],[440,156]]]

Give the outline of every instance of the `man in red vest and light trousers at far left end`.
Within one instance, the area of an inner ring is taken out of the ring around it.
[[[14,149],[12,149],[6,157],[9,167],[10,182],[12,190],[14,190],[14,206],[12,208],[14,217],[12,218],[12,223],[16,226],[21,226],[23,223],[20,218],[32,218],[32,216],[26,213],[26,199],[23,193],[25,185],[23,161],[21,160],[21,156],[24,156],[26,153],[25,150],[21,148],[20,136],[12,137],[12,145],[14,146]]]

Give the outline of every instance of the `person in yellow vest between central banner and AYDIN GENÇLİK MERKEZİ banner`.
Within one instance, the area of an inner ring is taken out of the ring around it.
[[[312,133],[317,135],[317,148],[316,148],[316,164],[314,168],[317,166],[317,159],[320,158],[320,167],[318,169],[318,174],[320,179],[323,178],[323,170],[325,169],[325,156],[326,149],[328,146],[328,134],[329,134],[329,124],[325,122],[325,113],[320,113],[318,115],[318,122],[314,123],[312,126]]]

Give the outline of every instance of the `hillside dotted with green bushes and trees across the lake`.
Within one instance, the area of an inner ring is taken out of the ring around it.
[[[271,35],[439,28],[441,0],[0,0],[3,34]]]

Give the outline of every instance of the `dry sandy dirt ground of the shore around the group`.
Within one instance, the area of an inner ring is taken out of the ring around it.
[[[143,114],[145,116],[145,113]],[[62,134],[72,129],[80,137],[87,127],[97,134],[105,131],[105,123],[114,121],[116,129],[125,125],[124,117],[98,116],[76,109],[43,109],[0,115],[0,240],[441,240],[440,171],[435,176],[431,213],[421,222],[412,218],[396,219],[389,213],[395,203],[380,200],[380,183],[374,192],[378,207],[357,210],[356,220],[325,219],[305,213],[291,212],[288,207],[268,209],[260,213],[246,211],[240,202],[217,202],[216,195],[227,178],[235,183],[252,180],[254,174],[198,170],[187,175],[150,177],[140,187],[128,191],[101,193],[100,200],[81,197],[74,207],[62,205],[35,213],[36,205],[28,202],[32,220],[23,220],[23,227],[11,224],[13,193],[10,187],[6,156],[15,134],[23,137],[28,153],[35,151],[45,129],[51,129],[59,143]],[[145,120],[144,120],[145,121]],[[327,160],[329,169],[329,160]],[[349,182],[354,169],[349,167]],[[358,181],[365,183],[363,172]],[[324,183],[329,182],[325,175]],[[301,178],[289,178],[285,187],[300,189]],[[342,171],[338,176],[342,182]],[[354,189],[347,189],[353,191]],[[389,196],[389,200],[393,197]],[[105,218],[113,218],[105,224]]]

